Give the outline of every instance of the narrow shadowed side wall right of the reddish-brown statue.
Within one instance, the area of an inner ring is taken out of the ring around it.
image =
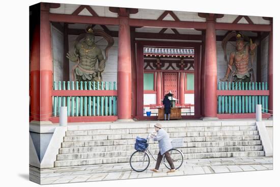
[[[268,78],[268,40],[269,37],[267,36],[262,42],[261,42],[261,64],[262,64],[262,82],[267,82]]]

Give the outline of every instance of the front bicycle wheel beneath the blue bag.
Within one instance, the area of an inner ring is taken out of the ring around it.
[[[144,151],[135,151],[130,156],[130,167],[136,172],[145,171],[150,165],[150,156]]]

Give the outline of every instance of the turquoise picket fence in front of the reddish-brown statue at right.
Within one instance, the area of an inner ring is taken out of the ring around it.
[[[219,82],[218,90],[267,90],[267,83]],[[218,114],[255,113],[256,105],[262,104],[262,112],[268,113],[268,95],[222,95],[218,96]]]

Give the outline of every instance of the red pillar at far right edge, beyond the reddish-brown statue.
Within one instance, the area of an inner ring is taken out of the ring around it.
[[[271,31],[269,32],[268,40],[268,86],[269,86],[269,101],[268,110],[273,114],[273,22],[270,20]]]

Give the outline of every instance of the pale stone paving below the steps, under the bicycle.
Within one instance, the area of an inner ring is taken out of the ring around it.
[[[187,159],[181,168],[174,173],[167,174],[167,168],[161,165],[160,172],[154,173],[150,169],[155,162],[144,172],[135,172],[129,163],[92,165],[82,167],[68,167],[40,170],[30,167],[30,178],[38,181],[41,175],[41,184],[89,182],[100,180],[132,179],[162,176],[180,176],[211,173],[230,173],[242,171],[260,171],[273,169],[273,157],[241,157],[241,158],[209,158]]]

